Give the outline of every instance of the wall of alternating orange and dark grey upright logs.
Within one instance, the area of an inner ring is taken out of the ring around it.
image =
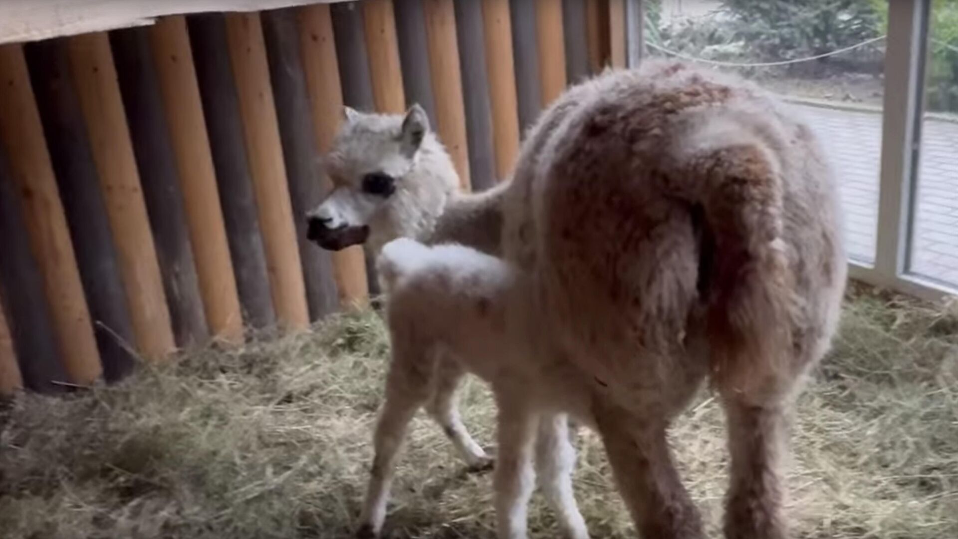
[[[463,190],[625,64],[624,0],[361,0],[0,46],[0,394],[119,380],[376,293],[305,216],[343,105],[419,103]]]

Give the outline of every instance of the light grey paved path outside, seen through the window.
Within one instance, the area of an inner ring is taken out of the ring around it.
[[[849,255],[875,260],[881,115],[796,105],[830,153],[845,210]],[[958,123],[928,118],[922,133],[913,273],[958,286]]]

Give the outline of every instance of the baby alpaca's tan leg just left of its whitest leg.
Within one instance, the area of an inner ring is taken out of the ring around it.
[[[515,398],[499,398],[499,452],[492,484],[499,539],[525,539],[529,498],[536,486],[536,414]]]

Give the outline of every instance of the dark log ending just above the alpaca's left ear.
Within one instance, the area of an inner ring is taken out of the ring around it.
[[[370,80],[369,54],[366,51],[366,28],[361,2],[332,4],[332,30],[335,37],[339,78],[342,83],[343,103],[356,110],[376,108],[373,82]],[[342,110],[337,112],[343,115]],[[365,271],[365,269],[364,269]]]

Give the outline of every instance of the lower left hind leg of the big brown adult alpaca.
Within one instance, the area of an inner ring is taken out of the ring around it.
[[[632,431],[615,416],[600,415],[604,414],[597,414],[596,419],[613,476],[642,536],[704,537],[698,510],[669,453],[665,426]]]

